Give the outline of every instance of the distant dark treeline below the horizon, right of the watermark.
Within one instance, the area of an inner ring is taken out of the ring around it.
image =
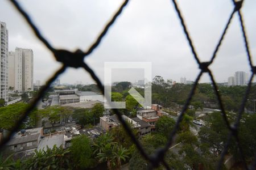
[[[176,83],[170,85],[164,81],[162,76],[155,76],[152,81],[152,102],[170,107],[173,103],[184,104],[189,96],[193,84]],[[227,111],[238,111],[247,86],[218,86],[224,107]],[[251,86],[251,91],[246,108],[253,111],[253,99],[256,99],[256,86]],[[212,84],[199,83],[196,87],[191,104],[201,103],[204,107],[218,109],[218,100]]]

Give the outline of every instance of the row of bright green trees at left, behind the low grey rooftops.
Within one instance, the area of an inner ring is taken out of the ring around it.
[[[0,108],[0,129],[11,130],[16,122],[19,121],[24,111],[29,104],[19,102],[10,104]],[[48,121],[54,125],[56,123],[68,122],[70,118],[76,120],[81,126],[93,126],[100,122],[100,117],[103,116],[104,105],[96,103],[92,108],[73,108],[63,107],[59,105],[47,107],[46,109],[34,109],[25,120],[19,129],[35,128],[36,123],[41,121],[41,118],[47,117]],[[46,122],[42,121],[42,126]]]

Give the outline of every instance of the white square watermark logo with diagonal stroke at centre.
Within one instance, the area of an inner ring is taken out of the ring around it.
[[[151,62],[105,62],[104,65],[104,107],[106,109],[125,109],[125,101],[112,101],[112,71],[113,69],[143,69],[144,97],[134,87],[128,91],[143,108],[151,107]],[[133,75],[131,75],[133,76]]]

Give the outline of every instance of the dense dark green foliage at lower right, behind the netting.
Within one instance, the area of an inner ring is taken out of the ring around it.
[[[230,122],[234,122],[236,118],[235,113],[227,113]],[[243,114],[240,122],[240,128],[238,129],[238,137],[240,139],[240,145],[245,154],[245,159],[250,162],[254,158],[254,151],[256,150],[256,114]],[[229,130],[222,118],[220,112],[214,112],[208,117],[208,124],[202,127],[199,131],[199,138],[201,145],[209,148],[214,155],[218,156],[224,148],[227,141]],[[237,143],[234,138],[228,148],[229,154],[232,154],[237,162],[241,161],[241,154],[238,151]]]

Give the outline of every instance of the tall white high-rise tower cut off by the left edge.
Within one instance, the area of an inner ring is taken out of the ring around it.
[[[0,99],[8,101],[8,30],[6,23],[0,21],[0,48],[1,48],[1,65],[0,65]]]

